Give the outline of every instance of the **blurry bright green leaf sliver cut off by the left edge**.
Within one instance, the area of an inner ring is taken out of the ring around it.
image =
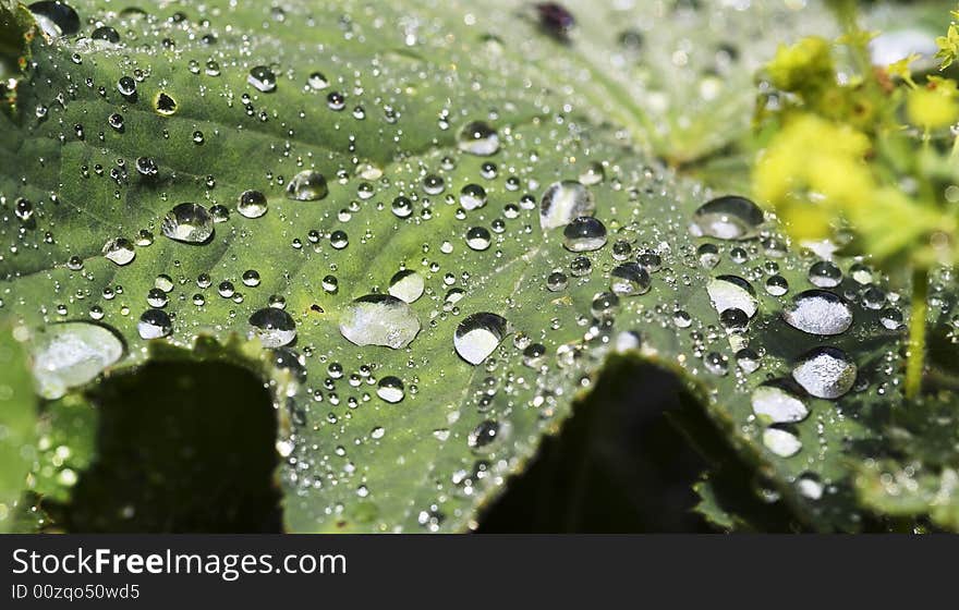
[[[10,532],[36,452],[36,399],[23,345],[0,326],[0,533]]]

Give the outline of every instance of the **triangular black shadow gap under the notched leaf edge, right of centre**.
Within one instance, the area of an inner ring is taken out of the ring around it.
[[[707,466],[667,414],[683,407],[676,377],[610,363],[562,431],[482,515],[481,533],[712,532],[692,512]]]

